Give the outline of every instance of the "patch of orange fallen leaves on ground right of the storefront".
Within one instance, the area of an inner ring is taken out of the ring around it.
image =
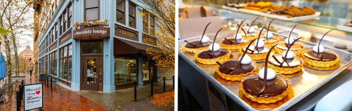
[[[153,104],[166,106],[174,100],[174,90],[154,94],[153,99],[150,101]]]

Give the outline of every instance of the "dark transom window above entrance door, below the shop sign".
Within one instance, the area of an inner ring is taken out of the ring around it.
[[[103,41],[84,41],[81,42],[81,47],[84,54],[103,53]]]

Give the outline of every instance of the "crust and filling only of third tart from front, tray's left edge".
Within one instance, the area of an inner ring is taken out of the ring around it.
[[[196,60],[203,64],[216,64],[216,61],[223,62],[231,56],[231,51],[226,49],[214,51],[214,55],[211,53],[211,50],[195,53]]]

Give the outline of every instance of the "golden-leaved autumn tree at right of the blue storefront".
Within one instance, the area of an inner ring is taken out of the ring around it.
[[[158,48],[149,47],[146,54],[156,62],[159,69],[174,70],[175,41],[175,0],[139,0],[150,10],[155,19],[155,32]],[[146,15],[145,12],[141,15]]]

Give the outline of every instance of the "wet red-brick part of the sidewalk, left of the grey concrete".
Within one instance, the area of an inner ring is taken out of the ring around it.
[[[26,76],[26,84],[39,83],[38,75],[32,74],[20,74],[20,76]],[[3,82],[2,82],[3,83]],[[20,84],[20,82],[18,82]],[[46,87],[43,83],[43,102],[44,110],[106,110],[103,106],[93,102],[86,97],[79,95],[78,93],[61,87],[53,82],[52,89]],[[16,92],[7,93],[6,101],[0,106],[2,110],[16,110]],[[23,107],[21,107],[23,110]],[[37,109],[38,110],[38,109]]]

